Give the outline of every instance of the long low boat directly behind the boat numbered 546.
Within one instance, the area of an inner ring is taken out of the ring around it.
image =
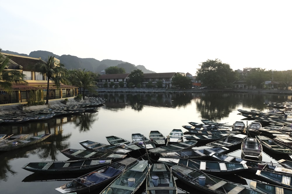
[[[187,150],[176,151],[176,152],[161,152],[160,157],[203,160],[203,159],[208,159],[210,155],[212,155],[215,152],[226,153],[226,152],[229,152],[229,149],[226,147],[212,147],[212,148],[204,148],[204,149],[187,149]]]

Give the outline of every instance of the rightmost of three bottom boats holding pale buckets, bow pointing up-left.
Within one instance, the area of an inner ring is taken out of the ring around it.
[[[218,194],[262,194],[254,189],[233,183],[219,177],[205,174],[192,168],[175,165],[171,167],[173,175],[190,187],[196,188],[204,193]]]

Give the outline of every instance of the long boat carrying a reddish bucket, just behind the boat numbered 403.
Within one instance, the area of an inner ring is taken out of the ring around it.
[[[222,154],[222,153],[212,153],[211,156],[213,160],[215,161],[246,164],[248,167],[248,170],[253,173],[255,173],[257,170],[263,170],[263,169],[269,172],[283,172],[287,174],[292,173],[291,169],[285,168],[278,163],[263,162],[263,161],[259,162],[256,160],[241,159],[239,157],[230,156],[230,155]]]

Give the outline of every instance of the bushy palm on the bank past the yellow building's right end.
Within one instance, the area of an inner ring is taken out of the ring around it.
[[[95,79],[96,74],[91,71],[85,71],[85,69],[77,70],[76,71],[76,81],[77,86],[79,88],[83,88],[82,95],[83,99],[85,99],[85,90],[88,90],[89,92],[96,93],[96,86],[95,86]],[[81,90],[81,89],[80,89]]]

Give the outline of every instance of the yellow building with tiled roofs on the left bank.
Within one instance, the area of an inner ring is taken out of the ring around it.
[[[36,101],[46,101],[47,78],[40,72],[32,70],[36,63],[44,63],[41,58],[0,53],[0,57],[9,58],[8,70],[19,70],[25,75],[27,84],[13,84],[11,91],[4,91],[0,88],[0,106],[27,104],[32,94]],[[55,65],[60,64],[60,60],[55,58]],[[74,98],[78,94],[77,86],[61,84],[59,88],[53,81],[49,86],[49,101],[65,98]]]

